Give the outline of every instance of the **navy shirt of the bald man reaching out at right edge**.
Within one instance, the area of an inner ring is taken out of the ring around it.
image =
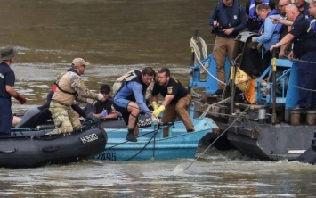
[[[312,26],[303,14],[298,15],[296,21],[292,25],[292,29],[288,32],[295,38],[293,39],[293,53],[296,58],[301,57],[305,53],[316,51],[316,37]]]

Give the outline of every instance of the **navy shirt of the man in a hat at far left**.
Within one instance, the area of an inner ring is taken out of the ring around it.
[[[4,62],[0,64],[0,97],[11,98],[5,86],[14,86],[15,75],[10,66]]]

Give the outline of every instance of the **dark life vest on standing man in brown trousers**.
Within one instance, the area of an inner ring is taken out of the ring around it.
[[[232,16],[234,16],[231,19],[228,19],[228,15],[226,13],[226,9],[225,9],[225,4],[223,4],[223,2],[219,2],[216,5],[216,10],[217,10],[217,19],[219,21],[219,23],[221,24],[221,28],[222,29],[227,29],[227,28],[231,28],[231,27],[236,27],[239,25],[240,23],[240,17],[239,17],[239,13],[241,10],[241,4],[239,4],[238,0],[234,0],[233,4],[232,4]],[[238,16],[238,17],[235,17]]]

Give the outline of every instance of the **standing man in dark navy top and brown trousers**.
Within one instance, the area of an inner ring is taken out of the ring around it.
[[[222,0],[215,5],[208,23],[214,28],[216,35],[213,55],[216,61],[217,78],[221,82],[215,94],[220,95],[225,87],[225,72],[229,73],[228,70],[224,70],[226,53],[231,60],[235,37],[247,25],[246,12],[238,0]]]

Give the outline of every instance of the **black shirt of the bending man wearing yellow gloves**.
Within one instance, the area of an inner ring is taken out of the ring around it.
[[[174,99],[170,103],[177,103],[179,99],[188,95],[188,90],[182,86],[182,84],[174,79],[170,78],[166,87],[159,86],[158,81],[155,82],[155,85],[152,89],[151,95],[174,95]]]

